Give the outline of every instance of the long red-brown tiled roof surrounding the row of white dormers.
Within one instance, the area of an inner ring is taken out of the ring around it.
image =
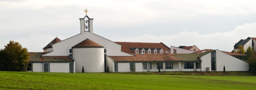
[[[141,42],[115,42],[121,45],[121,51],[125,53],[134,53],[130,48],[144,48],[148,50],[148,48],[162,48],[163,51],[170,51],[170,48],[165,46],[162,43],[141,43]],[[152,49],[151,49],[152,50]]]

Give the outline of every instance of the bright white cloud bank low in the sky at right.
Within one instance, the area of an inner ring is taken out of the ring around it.
[[[153,36],[145,34],[143,36],[123,39],[120,41],[126,42],[163,42],[168,46],[193,46],[196,45],[199,49],[219,49],[231,52],[233,46],[240,39],[247,37],[256,37],[256,22],[246,23],[242,26],[237,26],[234,30],[224,33],[198,34],[197,32],[182,31],[178,34]]]

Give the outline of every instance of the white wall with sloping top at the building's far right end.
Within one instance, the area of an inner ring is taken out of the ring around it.
[[[240,59],[232,57],[224,52],[216,50],[216,71],[248,71],[249,64]]]

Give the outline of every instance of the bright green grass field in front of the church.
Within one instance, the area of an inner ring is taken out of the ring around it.
[[[0,89],[255,90],[256,76],[0,71]]]

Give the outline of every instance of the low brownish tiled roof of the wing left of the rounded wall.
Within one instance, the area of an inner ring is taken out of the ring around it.
[[[41,56],[43,52],[28,52],[29,62],[74,62],[69,56]]]

